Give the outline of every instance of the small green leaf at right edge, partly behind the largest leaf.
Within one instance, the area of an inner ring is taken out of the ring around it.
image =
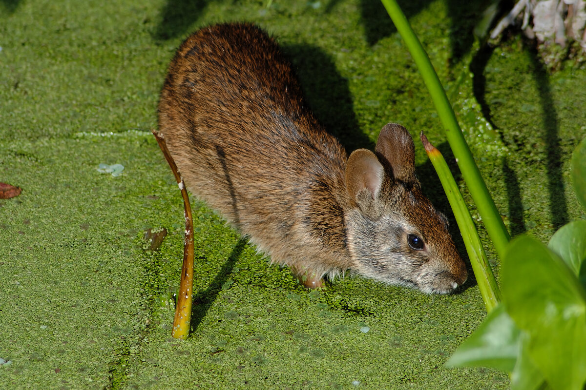
[[[586,279],[586,220],[577,220],[560,227],[551,236],[547,247],[558,254],[574,274]]]

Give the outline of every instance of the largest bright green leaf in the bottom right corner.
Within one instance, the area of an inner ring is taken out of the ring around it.
[[[540,241],[511,241],[501,266],[503,302],[530,336],[529,356],[554,390],[586,381],[586,291]]]

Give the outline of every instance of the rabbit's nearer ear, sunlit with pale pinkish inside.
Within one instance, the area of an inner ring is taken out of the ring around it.
[[[362,210],[370,209],[383,185],[384,168],[370,150],[358,149],[346,163],[346,188],[350,198]]]

